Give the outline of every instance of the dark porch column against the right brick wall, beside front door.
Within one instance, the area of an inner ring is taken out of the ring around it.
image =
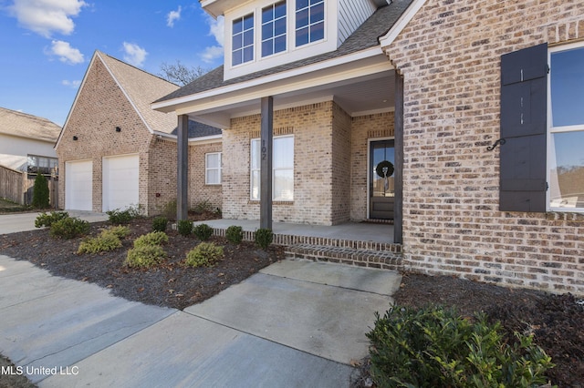
[[[403,77],[395,71],[395,202],[393,204],[393,242],[403,242]]]

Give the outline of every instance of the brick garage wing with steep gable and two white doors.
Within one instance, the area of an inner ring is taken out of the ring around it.
[[[108,211],[141,205],[156,214],[176,199],[174,114],[150,104],[178,87],[96,51],[57,139],[59,207]],[[205,181],[205,159],[221,160],[221,131],[188,123],[189,158],[203,168],[189,177],[191,206],[219,207],[220,181]],[[218,161],[217,161],[218,160]],[[220,169],[214,171],[219,174]]]

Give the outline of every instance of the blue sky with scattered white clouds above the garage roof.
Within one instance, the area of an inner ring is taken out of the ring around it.
[[[95,50],[155,75],[223,62],[223,21],[197,0],[0,0],[0,107],[62,126]]]

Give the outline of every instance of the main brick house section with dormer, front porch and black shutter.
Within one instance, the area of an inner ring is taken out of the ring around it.
[[[584,294],[584,3],[201,3],[224,66],[153,108],[224,129],[224,218],[393,220],[406,269]]]

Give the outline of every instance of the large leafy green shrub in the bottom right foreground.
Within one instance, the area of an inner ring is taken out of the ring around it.
[[[454,309],[394,307],[367,333],[370,373],[379,387],[533,387],[547,383],[550,357],[531,336],[509,345],[498,322]]]

